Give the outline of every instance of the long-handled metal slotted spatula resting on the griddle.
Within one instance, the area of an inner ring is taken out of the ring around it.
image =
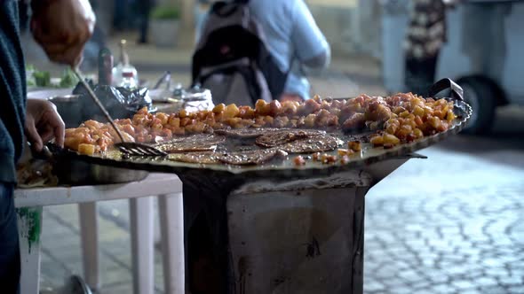
[[[115,143],[115,146],[122,151],[124,154],[127,155],[134,155],[134,156],[166,156],[167,153],[164,151],[160,151],[156,149],[155,147],[142,144],[142,143],[135,143],[135,142],[125,142],[123,139],[123,135],[120,132],[120,129],[116,127],[115,122],[113,121],[113,118],[111,118],[111,115],[109,112],[107,112],[106,107],[100,103],[99,98],[96,96],[96,94],[91,89],[91,86],[87,84],[87,82],[83,79],[82,74],[78,72],[78,69],[75,67],[72,67],[73,72],[76,75],[76,78],[82,83],[83,87],[87,89],[89,96],[93,99],[95,104],[99,106],[100,111],[104,113],[106,116],[106,119],[109,120],[109,123],[113,128],[115,128],[115,132],[120,138],[120,143]]]

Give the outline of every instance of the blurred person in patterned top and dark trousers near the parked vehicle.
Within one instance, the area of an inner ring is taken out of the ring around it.
[[[433,85],[437,62],[447,40],[446,9],[460,0],[412,0],[406,50],[408,91],[426,96]]]

